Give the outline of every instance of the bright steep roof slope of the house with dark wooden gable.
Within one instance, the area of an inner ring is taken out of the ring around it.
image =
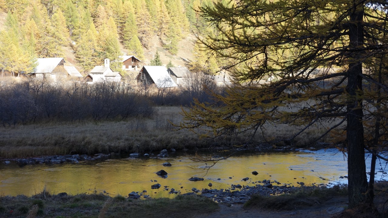
[[[165,66],[144,66],[143,68],[147,70],[158,88],[177,87],[177,84],[168,75]]]

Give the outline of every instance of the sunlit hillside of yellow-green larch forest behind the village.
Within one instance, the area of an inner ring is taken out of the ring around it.
[[[114,66],[123,51],[143,60],[157,37],[176,54],[178,43],[191,31],[206,31],[196,11],[208,0],[4,0],[6,13],[0,32],[2,75],[28,74],[36,58],[75,56],[80,71],[88,72],[105,58]],[[154,52],[153,52],[154,54]],[[164,63],[166,64],[166,63]],[[204,64],[203,64],[204,65]]]

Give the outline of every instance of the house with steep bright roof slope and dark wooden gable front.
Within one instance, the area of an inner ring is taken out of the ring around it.
[[[165,66],[144,66],[136,77],[138,85],[155,84],[158,88],[177,87]]]

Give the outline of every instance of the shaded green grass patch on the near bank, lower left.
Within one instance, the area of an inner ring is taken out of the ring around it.
[[[104,194],[80,194],[65,198],[50,197],[36,199],[26,196],[0,197],[1,218],[12,218],[15,214],[7,213],[15,210],[17,217],[25,217],[32,205],[40,205],[37,217],[54,218],[170,218],[170,217],[201,217],[203,213],[217,210],[218,204],[201,196],[177,196],[173,199],[129,199],[123,196],[109,197]],[[43,211],[44,208],[47,208]],[[1,211],[5,212],[1,212]]]

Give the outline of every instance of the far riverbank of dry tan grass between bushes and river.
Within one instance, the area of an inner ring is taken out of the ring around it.
[[[322,128],[314,127],[293,141],[270,144],[268,139],[289,136],[298,131],[284,126],[267,127],[267,135],[254,138],[240,135],[237,138],[211,140],[194,132],[178,130],[172,125],[182,120],[178,106],[156,107],[152,117],[136,117],[126,121],[105,122],[55,122],[0,127],[0,158],[26,158],[50,155],[97,153],[150,153],[162,149],[235,149],[311,147],[309,139],[319,135]],[[323,139],[324,140],[324,139]]]

